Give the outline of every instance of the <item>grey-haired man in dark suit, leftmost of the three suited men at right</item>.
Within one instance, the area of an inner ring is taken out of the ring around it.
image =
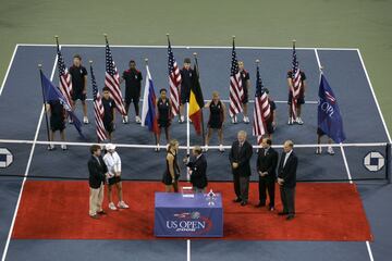
[[[250,158],[253,147],[246,140],[246,132],[240,130],[237,140],[231,147],[229,160],[232,167],[234,191],[236,199],[234,202],[241,202],[241,206],[247,204],[250,178]]]

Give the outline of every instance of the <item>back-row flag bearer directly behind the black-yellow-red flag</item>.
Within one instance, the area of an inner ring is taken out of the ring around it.
[[[195,72],[191,67],[191,59],[184,59],[184,66],[180,70],[181,74],[181,86],[180,86],[180,119],[179,122],[183,123],[184,119],[184,107],[186,102],[189,102],[191,88],[194,83]]]

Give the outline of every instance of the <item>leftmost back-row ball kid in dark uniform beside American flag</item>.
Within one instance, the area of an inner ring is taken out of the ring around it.
[[[87,117],[87,70],[82,66],[82,57],[75,54],[73,58],[73,65],[69,70],[72,80],[72,110],[76,109],[76,101],[81,100],[83,105],[83,123],[88,124]],[[70,123],[71,120],[70,120]]]

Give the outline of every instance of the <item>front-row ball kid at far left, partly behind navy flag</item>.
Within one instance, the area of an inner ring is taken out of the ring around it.
[[[50,141],[54,140],[54,133],[60,132],[62,141],[65,141],[65,110],[59,100],[48,101],[47,111],[50,111]],[[53,150],[54,145],[49,145],[48,150]],[[61,145],[62,150],[66,150],[66,145]]]

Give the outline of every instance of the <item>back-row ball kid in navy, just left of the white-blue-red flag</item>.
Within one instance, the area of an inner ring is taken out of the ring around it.
[[[123,72],[122,79],[120,79],[120,84],[125,80],[125,111],[126,115],[123,116],[123,123],[128,123],[127,113],[130,111],[131,102],[134,103],[135,107],[135,121],[136,123],[142,123],[142,119],[139,116],[139,100],[142,92],[142,72],[136,69],[136,62],[130,61],[130,69]]]

